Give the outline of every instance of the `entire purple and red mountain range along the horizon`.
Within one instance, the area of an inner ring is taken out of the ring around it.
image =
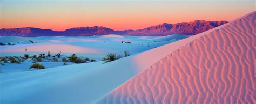
[[[165,36],[171,34],[195,35],[214,27],[226,24],[227,21],[192,21],[178,24],[160,24],[138,30],[114,31],[113,29],[94,26],[70,28],[65,31],[52,31],[33,27],[0,29],[0,36],[92,36],[92,35],[133,35],[133,36]]]

